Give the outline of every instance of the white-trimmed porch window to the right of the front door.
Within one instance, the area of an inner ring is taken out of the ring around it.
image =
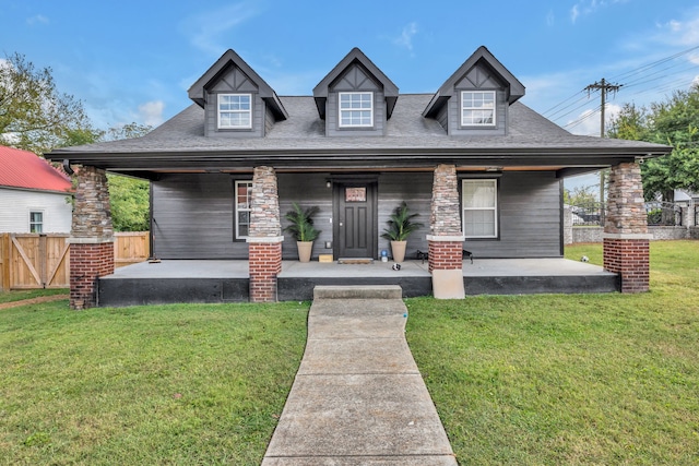
[[[497,238],[498,180],[462,180],[463,235],[466,238]]]

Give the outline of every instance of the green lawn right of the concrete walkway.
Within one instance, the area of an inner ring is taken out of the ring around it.
[[[651,289],[407,300],[459,462],[699,464],[699,242],[651,243]]]

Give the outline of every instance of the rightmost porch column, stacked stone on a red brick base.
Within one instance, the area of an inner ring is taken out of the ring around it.
[[[650,239],[641,168],[612,167],[604,223],[604,268],[621,277],[621,292],[642,292],[650,285]]]

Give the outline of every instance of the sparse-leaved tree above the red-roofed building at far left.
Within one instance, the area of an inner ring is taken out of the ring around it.
[[[82,103],[58,92],[50,68],[37,70],[20,53],[0,60],[1,144],[43,155],[74,131],[93,130]]]

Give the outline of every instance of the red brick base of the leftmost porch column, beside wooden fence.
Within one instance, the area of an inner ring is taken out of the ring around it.
[[[97,306],[97,278],[114,273],[114,241],[70,244],[70,307],[75,310]]]

